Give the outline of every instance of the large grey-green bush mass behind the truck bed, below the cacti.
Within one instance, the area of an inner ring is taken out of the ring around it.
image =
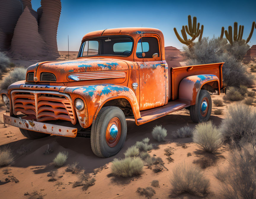
[[[239,57],[244,56],[244,49],[248,47],[246,46],[247,44],[239,44],[232,47],[226,39],[213,37],[202,38],[200,42],[195,42],[192,48],[183,47],[183,49],[188,65],[225,62],[222,68],[223,81],[228,86],[239,87],[254,84],[252,76],[247,73],[247,68],[239,60]],[[236,48],[240,50],[234,50]]]

